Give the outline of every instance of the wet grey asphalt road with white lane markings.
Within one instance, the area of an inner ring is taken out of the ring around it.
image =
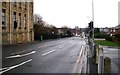
[[[1,73],[73,73],[85,40],[71,37],[3,46]]]

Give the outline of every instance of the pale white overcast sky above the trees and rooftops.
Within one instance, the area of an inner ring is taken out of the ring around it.
[[[94,26],[118,25],[118,1],[93,0]],[[92,20],[92,0],[34,0],[34,14],[39,14],[48,24],[56,27],[86,27]]]

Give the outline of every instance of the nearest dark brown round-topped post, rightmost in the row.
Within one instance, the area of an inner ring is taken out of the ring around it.
[[[107,75],[111,73],[111,59],[109,57],[104,58],[104,73],[107,73]]]

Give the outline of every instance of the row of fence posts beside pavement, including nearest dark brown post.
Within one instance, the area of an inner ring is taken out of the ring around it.
[[[106,73],[106,72],[110,73],[110,71],[111,71],[111,64],[110,64],[111,59],[109,57],[107,57],[107,58],[104,57],[103,48],[100,45],[96,44],[94,42],[94,40],[92,40],[90,38],[88,38],[88,45],[89,45],[89,54],[91,55],[90,57],[93,58],[93,59],[95,58],[94,63],[98,67],[98,69],[97,69],[98,72],[97,73],[100,74],[100,75],[103,75],[103,73]],[[89,59],[87,61],[88,61],[88,64],[89,64],[89,62],[90,62]],[[108,62],[108,64],[106,64],[106,62]],[[106,66],[109,67],[109,68],[107,68]],[[106,70],[106,68],[109,69],[109,70]]]

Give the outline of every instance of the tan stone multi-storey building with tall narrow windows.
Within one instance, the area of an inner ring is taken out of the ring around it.
[[[34,41],[33,0],[2,0],[2,44]]]

